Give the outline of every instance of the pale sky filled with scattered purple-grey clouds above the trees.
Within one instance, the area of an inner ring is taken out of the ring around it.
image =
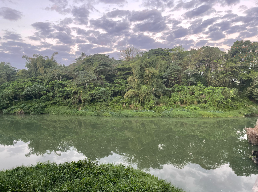
[[[80,52],[216,46],[258,40],[258,0],[0,0],[0,61],[22,55],[70,64]]]

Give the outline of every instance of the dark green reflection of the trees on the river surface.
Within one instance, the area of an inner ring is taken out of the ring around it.
[[[188,163],[206,170],[224,164],[238,176],[257,174],[244,135],[256,118],[104,118],[50,115],[1,115],[0,144],[29,142],[30,152],[43,155],[74,147],[95,160],[112,152],[140,169],[162,169]],[[56,153],[58,155],[58,153]]]

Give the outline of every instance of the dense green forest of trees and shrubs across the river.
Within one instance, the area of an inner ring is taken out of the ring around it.
[[[210,46],[149,51],[131,47],[120,52],[119,60],[81,53],[69,66],[59,64],[56,54],[24,55],[27,69],[22,70],[0,63],[3,113],[58,114],[65,109],[106,116],[124,110],[258,114],[258,42],[236,41],[227,52]]]

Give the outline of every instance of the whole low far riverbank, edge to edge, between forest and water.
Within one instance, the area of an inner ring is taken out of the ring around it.
[[[194,110],[185,107],[169,110],[96,110],[96,109],[77,109],[68,106],[46,106],[36,105],[32,110],[24,110],[19,107],[10,107],[2,110],[4,114],[52,114],[52,115],[81,115],[81,116],[102,116],[102,117],[171,117],[171,118],[227,118],[227,117],[245,117],[257,116],[258,110],[253,107],[252,110]]]

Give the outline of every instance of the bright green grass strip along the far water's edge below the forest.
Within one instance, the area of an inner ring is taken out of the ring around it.
[[[232,111],[204,111],[204,110],[171,110],[165,112],[155,112],[151,110],[121,110],[121,111],[89,111],[77,110],[67,106],[50,106],[45,110],[45,114],[54,115],[83,115],[83,116],[103,116],[103,117],[173,117],[173,118],[196,118],[196,117],[243,117],[246,116],[243,110]]]

